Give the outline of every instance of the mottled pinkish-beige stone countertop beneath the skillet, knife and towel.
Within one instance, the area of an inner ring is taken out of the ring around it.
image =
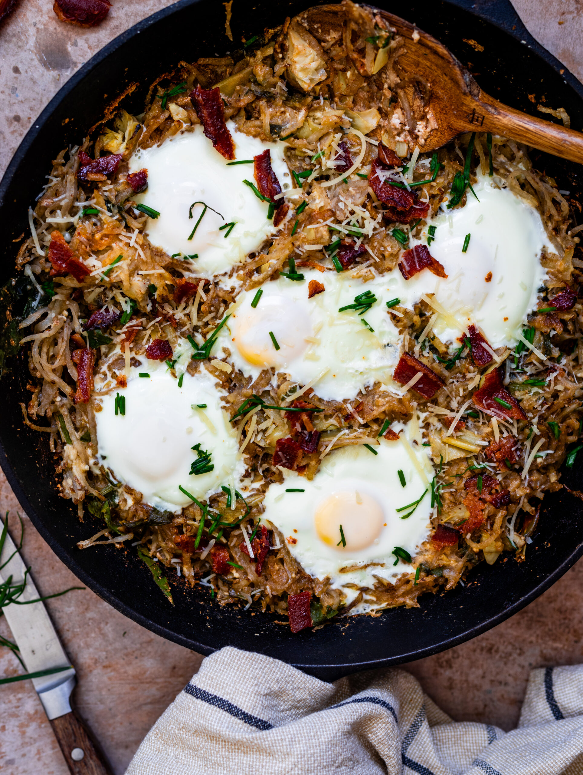
[[[31,123],[60,86],[109,40],[170,0],[125,0],[96,29],[57,20],[50,0],[19,0],[0,26],[0,174]],[[530,32],[583,81],[581,0],[513,0]],[[558,107],[558,106],[557,106]],[[29,522],[0,474],[0,512],[12,536],[24,518],[23,556],[41,594],[78,585]],[[93,592],[71,591],[47,602],[77,669],[77,709],[117,775],[139,742],[187,683],[202,657],[153,635]],[[470,642],[406,665],[427,694],[456,720],[516,725],[533,667],[581,661],[583,560],[507,622]],[[0,635],[10,637],[4,618]],[[0,649],[0,675],[20,667]],[[6,775],[67,775],[52,729],[29,681],[0,687],[0,770]]]

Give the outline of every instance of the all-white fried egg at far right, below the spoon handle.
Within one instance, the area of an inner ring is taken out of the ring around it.
[[[490,346],[514,346],[546,277],[541,253],[544,248],[555,251],[535,208],[509,189],[496,188],[485,175],[478,175],[474,191],[478,198],[468,190],[464,207],[447,210],[444,203],[437,217],[427,221],[422,239],[410,243],[427,245],[429,227],[434,227],[429,250],[447,280],[427,269],[405,280],[395,268],[387,284],[408,308],[422,294],[435,294],[441,314],[433,329],[443,342],[455,343],[473,323]]]

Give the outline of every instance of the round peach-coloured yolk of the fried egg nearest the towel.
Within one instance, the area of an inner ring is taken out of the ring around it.
[[[366,493],[355,491],[329,495],[314,512],[318,537],[341,551],[358,552],[371,546],[379,538],[384,522],[385,515],[379,502]],[[341,542],[341,527],[346,546]]]

